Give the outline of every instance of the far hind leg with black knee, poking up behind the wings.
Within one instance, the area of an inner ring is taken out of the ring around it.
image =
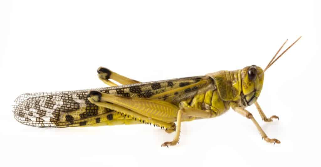
[[[125,76],[122,76],[122,75],[119,75],[107,68],[104,68],[104,67],[100,67],[97,69],[97,72],[98,72],[98,77],[99,79],[108,84],[109,86],[118,86],[116,83],[110,81],[110,79],[118,82],[118,83],[121,83],[123,85],[127,85],[127,84],[134,84],[134,83],[140,83],[139,81],[136,81],[136,80],[133,80],[133,79],[130,79],[130,78],[127,78]]]

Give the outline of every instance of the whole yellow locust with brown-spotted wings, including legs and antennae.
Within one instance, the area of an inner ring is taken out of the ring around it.
[[[99,78],[111,87],[22,94],[15,100],[17,105],[13,106],[13,113],[20,123],[47,128],[153,124],[168,133],[176,131],[173,141],[162,144],[168,146],[178,143],[182,121],[213,118],[232,108],[252,120],[265,141],[280,143],[277,139],[268,138],[253,115],[245,109],[255,104],[265,122],[278,119],[275,115],[267,118],[257,103],[264,72],[284,53],[274,60],[278,52],[265,70],[253,65],[205,76],[147,83],[140,83],[107,68],[99,68]],[[118,86],[110,79],[123,85]]]

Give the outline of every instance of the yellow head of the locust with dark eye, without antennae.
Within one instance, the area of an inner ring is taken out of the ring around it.
[[[262,68],[253,65],[241,70],[241,100],[243,106],[249,106],[256,102],[261,93],[263,81],[264,73]]]

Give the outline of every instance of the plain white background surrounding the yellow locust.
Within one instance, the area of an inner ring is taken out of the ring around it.
[[[1,166],[318,166],[320,29],[316,1],[0,2]],[[258,102],[266,143],[230,110],[182,123],[180,144],[160,128],[120,125],[41,129],[11,112],[25,92],[105,87],[107,67],[138,81],[264,68],[281,44],[302,38],[265,74]]]

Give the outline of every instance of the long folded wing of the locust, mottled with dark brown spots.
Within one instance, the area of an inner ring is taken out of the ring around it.
[[[123,97],[162,99],[178,105],[181,100],[213,89],[211,83],[212,79],[207,76],[195,76],[92,90]],[[113,110],[90,103],[87,92],[77,90],[22,94],[15,100],[14,117],[26,125],[47,128],[84,126],[110,120]]]

